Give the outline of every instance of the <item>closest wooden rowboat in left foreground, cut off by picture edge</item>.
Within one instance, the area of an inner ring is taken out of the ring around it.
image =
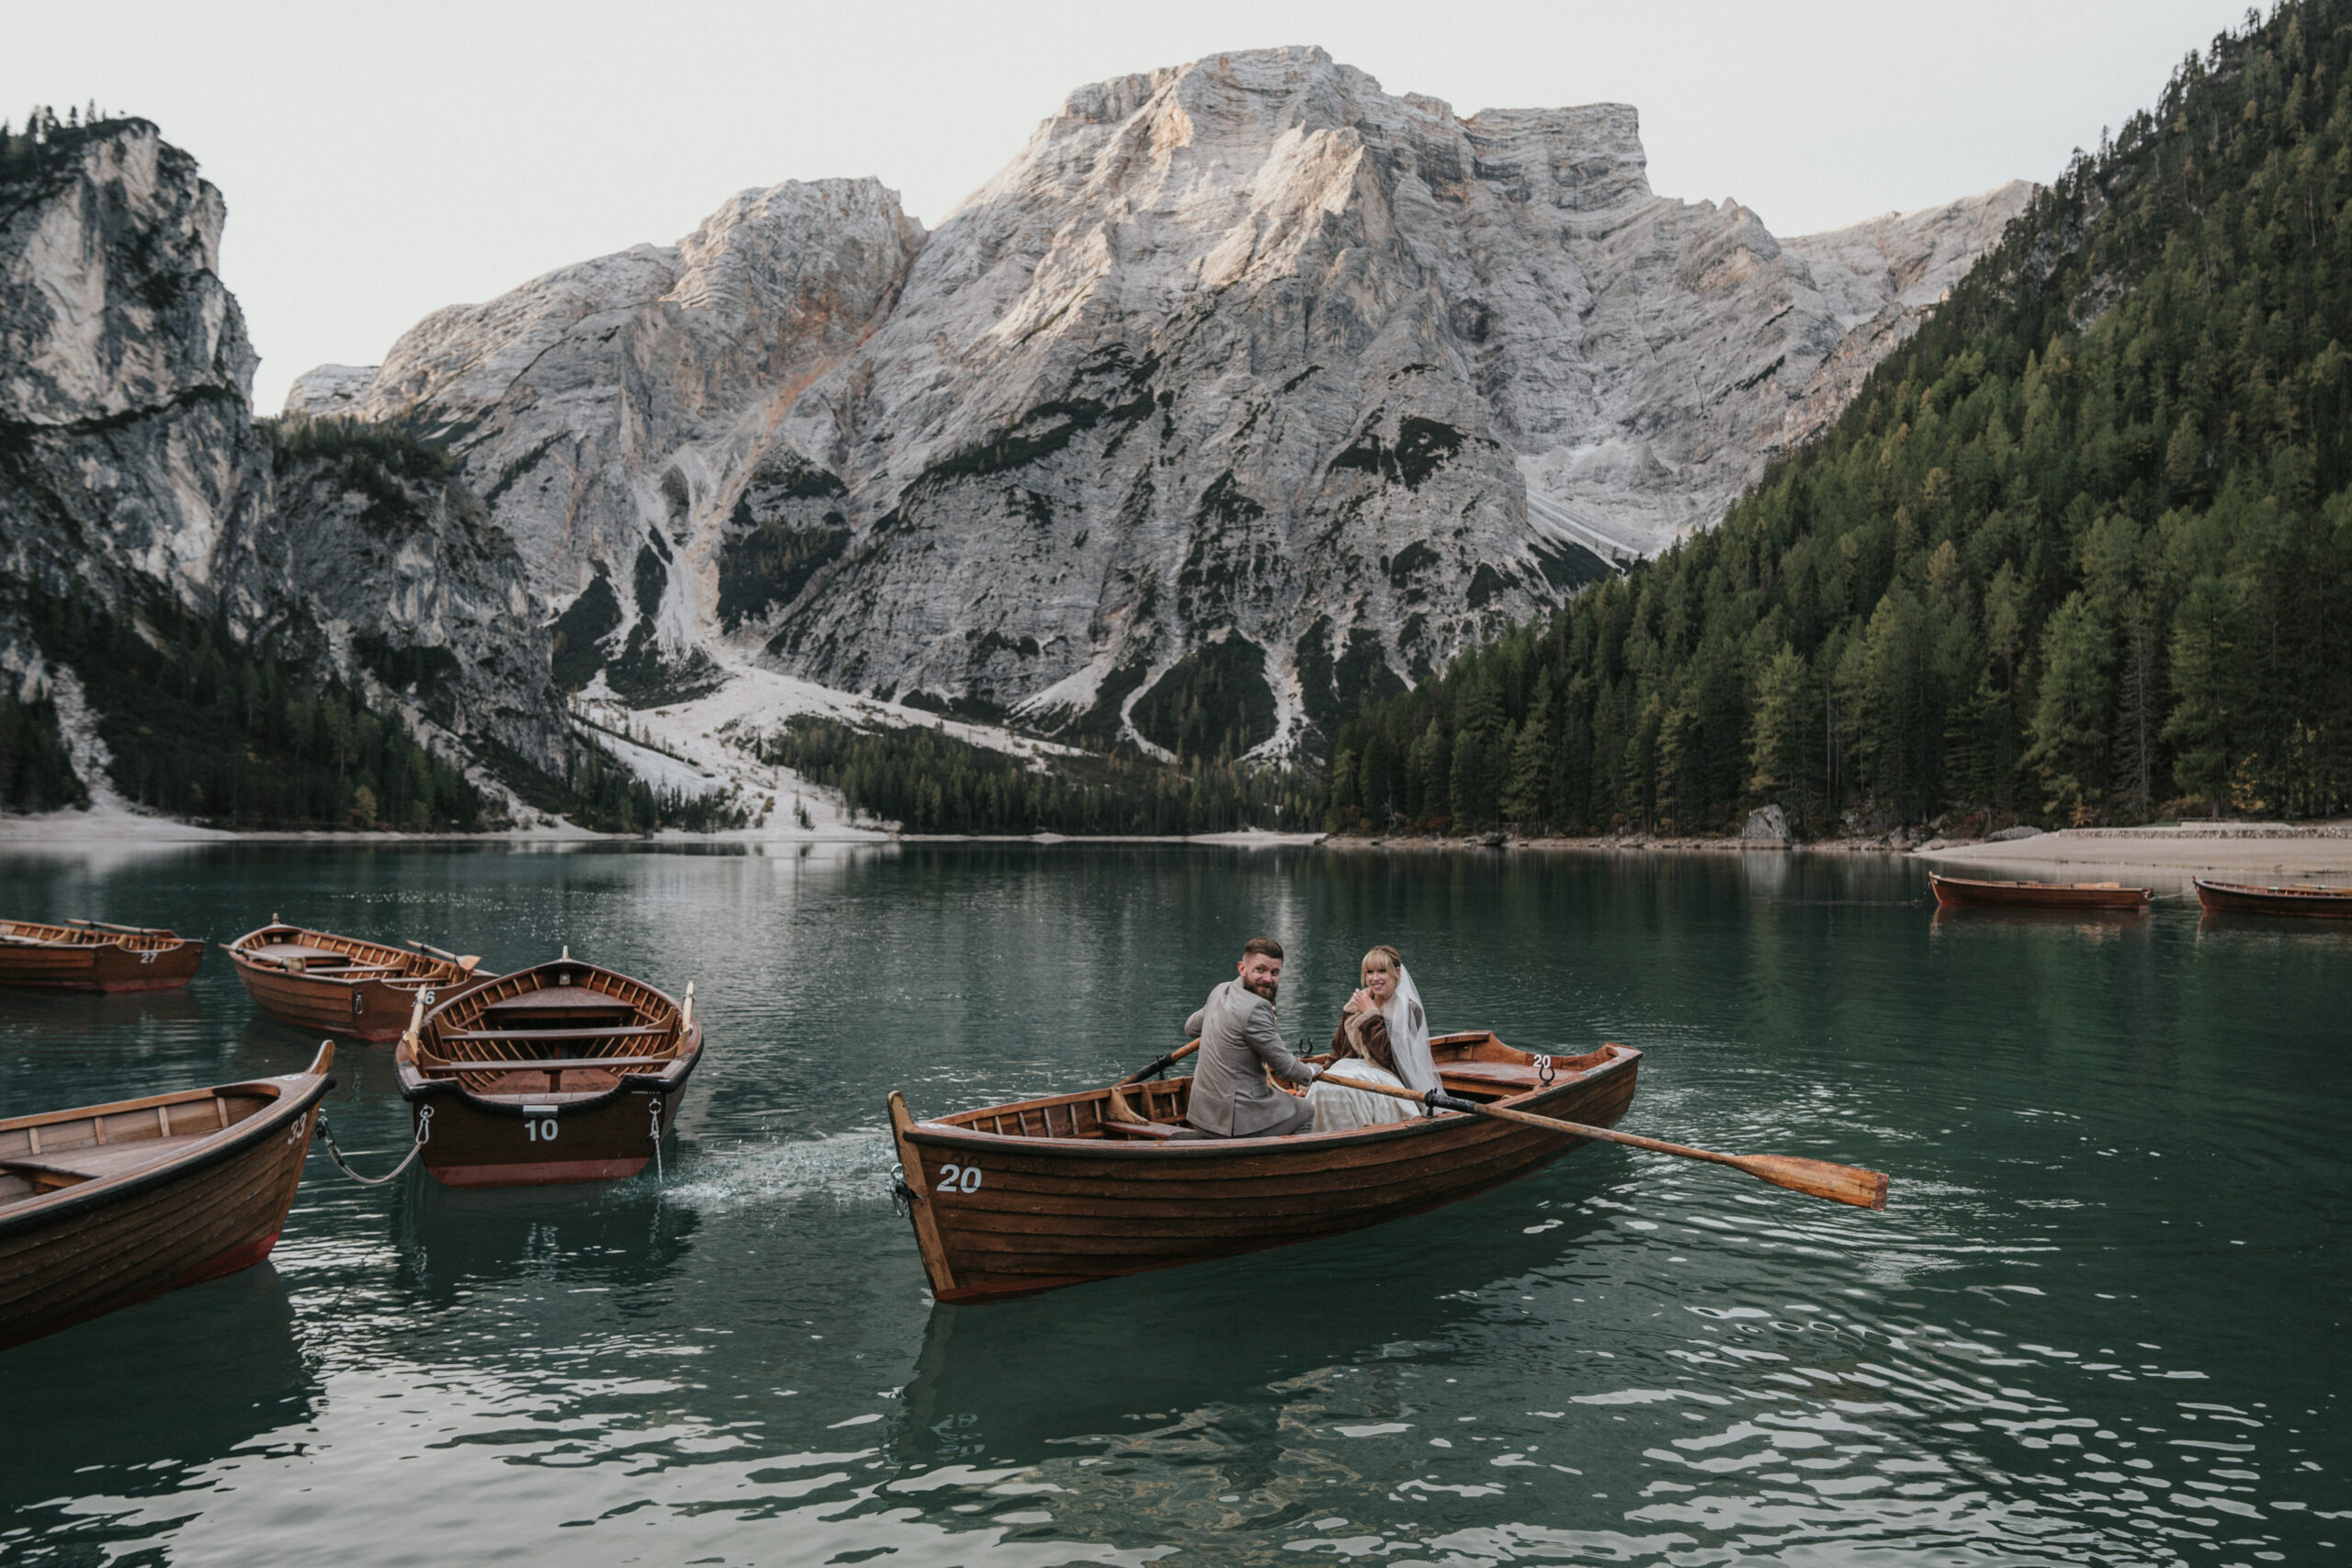
[[[268,1258],[332,1065],[0,1121],[0,1347]]]

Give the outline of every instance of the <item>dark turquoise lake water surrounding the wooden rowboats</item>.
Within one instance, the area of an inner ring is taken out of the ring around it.
[[[2258,1563],[2352,1544],[2352,931],[1936,919],[1811,856],[228,844],[0,856],[0,914],[273,912],[668,990],[661,1178],[365,1190],[270,1265],[0,1354],[7,1563]],[[1886,1213],[1590,1147],[1317,1246],[936,1307],[917,1114],[1117,1077],[1244,938],[1329,1034],[1639,1046],[1623,1121],[1893,1173]],[[0,1114],[294,1072],[221,954],[0,992]],[[407,1143],[339,1048],[362,1168]]]

